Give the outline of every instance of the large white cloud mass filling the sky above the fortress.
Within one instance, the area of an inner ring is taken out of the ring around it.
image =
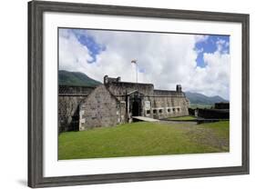
[[[74,34],[63,31],[59,38],[60,69],[84,72],[102,81],[104,75],[121,76],[122,81],[135,81],[138,60],[143,73],[138,82],[151,83],[155,88],[175,90],[181,84],[184,91],[207,95],[221,95],[229,99],[230,55],[221,54],[220,48],[213,54],[204,54],[206,67],[198,67],[195,44],[206,41],[207,35],[152,34],[133,32],[87,31],[106,51],[97,55],[97,61],[88,64],[92,57],[86,46],[81,45]]]

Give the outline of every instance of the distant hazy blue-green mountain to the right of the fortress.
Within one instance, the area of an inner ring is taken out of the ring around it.
[[[190,104],[212,105],[220,102],[229,102],[224,98],[220,97],[220,95],[207,96],[204,94],[191,93],[191,92],[186,92],[185,94],[187,98],[189,98]]]

